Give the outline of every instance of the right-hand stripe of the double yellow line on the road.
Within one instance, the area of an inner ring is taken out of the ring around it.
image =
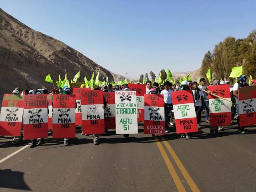
[[[187,181],[188,185],[190,186],[192,192],[200,192],[200,190],[196,186],[195,182],[192,180],[192,178],[188,174],[186,168],[183,166],[182,162],[179,160],[178,156],[176,155],[176,153],[174,152],[174,150],[172,149],[172,147],[170,146],[168,141],[166,141],[166,139],[163,136],[161,136],[161,138],[162,138],[162,140],[164,140],[164,145],[166,146],[170,155],[174,159],[174,162],[177,164],[178,168],[180,169],[180,172],[184,176],[184,178]]]

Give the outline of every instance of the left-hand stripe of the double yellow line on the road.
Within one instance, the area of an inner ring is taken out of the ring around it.
[[[166,166],[168,167],[169,169],[169,172],[172,176],[172,179],[174,180],[174,183],[178,189],[178,192],[186,192],[184,186],[182,185],[182,182],[180,181],[180,178],[178,177],[178,174],[177,172],[175,171],[174,169],[174,166],[172,165],[172,162],[170,161],[168,155],[166,154],[165,150],[164,150],[164,147],[162,146],[161,142],[159,139],[155,139],[156,141],[156,144],[164,158],[164,161],[166,163]]]

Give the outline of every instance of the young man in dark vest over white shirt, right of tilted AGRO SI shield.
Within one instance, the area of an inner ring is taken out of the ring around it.
[[[203,80],[202,80],[203,81]],[[202,82],[200,81],[200,82]],[[194,99],[194,105],[196,109],[196,121],[198,129],[200,129],[200,120],[201,120],[201,113],[202,113],[202,100],[204,99],[204,93],[202,90],[198,88],[197,82],[192,82],[192,93],[193,93],[193,99]],[[208,97],[207,97],[208,98]]]

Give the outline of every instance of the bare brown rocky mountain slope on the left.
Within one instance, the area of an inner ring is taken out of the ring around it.
[[[52,89],[52,84],[45,82],[50,72],[54,81],[65,69],[68,78],[81,70],[81,78],[91,78],[92,72],[100,69],[100,79],[112,73],[96,64],[82,53],[63,42],[35,31],[0,9],[0,97],[11,93],[15,87],[20,89]],[[79,80],[78,80],[79,81]],[[1,99],[1,98],[0,98]]]

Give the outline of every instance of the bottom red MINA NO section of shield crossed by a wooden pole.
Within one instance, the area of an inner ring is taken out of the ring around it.
[[[231,113],[210,113],[210,127],[228,126],[231,124]]]

